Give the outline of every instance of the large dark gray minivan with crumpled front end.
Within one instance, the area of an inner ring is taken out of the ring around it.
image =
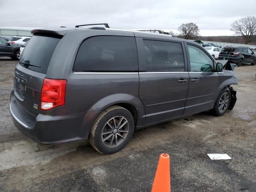
[[[10,113],[43,144],[90,140],[104,154],[134,129],[232,109],[236,74],[190,40],[112,28],[32,30],[14,72]]]

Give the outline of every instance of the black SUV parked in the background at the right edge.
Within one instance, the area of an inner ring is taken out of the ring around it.
[[[218,60],[229,60],[238,67],[245,63],[256,65],[256,54],[248,47],[224,47],[220,52]]]

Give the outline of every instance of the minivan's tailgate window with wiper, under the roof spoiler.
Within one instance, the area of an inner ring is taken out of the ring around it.
[[[58,38],[33,36],[22,52],[20,65],[32,71],[46,74],[52,54],[59,41]]]

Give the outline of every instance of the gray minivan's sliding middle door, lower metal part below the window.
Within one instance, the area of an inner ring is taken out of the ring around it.
[[[146,124],[183,114],[188,92],[188,72],[140,73],[139,76]]]

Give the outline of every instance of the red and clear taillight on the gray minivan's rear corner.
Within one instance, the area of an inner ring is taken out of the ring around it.
[[[67,80],[44,79],[41,93],[41,110],[50,110],[57,106],[65,105]]]

